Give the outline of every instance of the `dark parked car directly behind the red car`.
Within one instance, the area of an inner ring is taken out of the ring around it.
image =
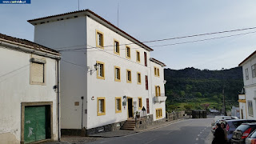
[[[232,119],[232,120],[223,120],[226,122],[226,134],[228,142],[230,142],[234,130],[240,126],[242,123],[252,123],[256,122],[256,120],[248,120],[248,119]]]

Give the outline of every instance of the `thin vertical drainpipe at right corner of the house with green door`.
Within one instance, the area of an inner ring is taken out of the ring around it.
[[[58,82],[58,141],[61,141],[61,128],[60,128],[60,60],[57,60],[57,82]]]

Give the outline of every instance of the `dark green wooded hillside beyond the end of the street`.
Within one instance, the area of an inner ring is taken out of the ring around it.
[[[242,91],[242,67],[229,70],[198,70],[193,67],[184,70],[165,69],[167,109],[185,105],[202,109],[203,103],[210,108],[222,109],[224,86],[226,109],[238,106],[238,94]]]

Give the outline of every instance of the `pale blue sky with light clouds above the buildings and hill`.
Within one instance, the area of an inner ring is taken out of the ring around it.
[[[79,10],[94,11],[141,42],[256,27],[255,7],[254,0],[79,0]],[[27,20],[75,10],[78,0],[0,4],[0,33],[33,42],[34,26]],[[166,68],[230,69],[256,50],[256,28],[145,44]]]

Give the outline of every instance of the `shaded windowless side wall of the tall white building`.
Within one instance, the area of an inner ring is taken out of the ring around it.
[[[34,42],[54,50],[66,50],[61,52],[61,128],[86,127],[86,17],[38,24],[34,26]],[[81,97],[84,97],[83,108]],[[78,106],[75,102],[79,102]]]

